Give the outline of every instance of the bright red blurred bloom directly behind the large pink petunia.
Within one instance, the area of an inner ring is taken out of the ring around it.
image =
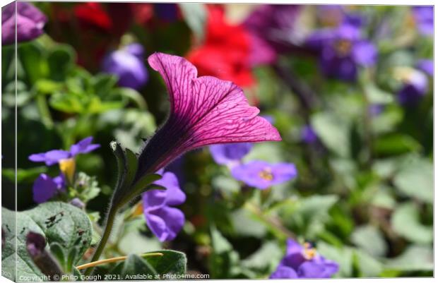
[[[241,87],[253,85],[249,64],[251,35],[243,25],[227,23],[222,7],[207,7],[206,39],[191,49],[187,59],[198,68],[200,76],[231,80]]]

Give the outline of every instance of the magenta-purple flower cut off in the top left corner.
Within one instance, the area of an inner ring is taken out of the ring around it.
[[[44,32],[46,16],[27,2],[13,2],[1,11],[1,44],[33,40]],[[17,25],[16,25],[17,24]]]

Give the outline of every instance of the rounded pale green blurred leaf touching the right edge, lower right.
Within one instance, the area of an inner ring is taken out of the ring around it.
[[[400,236],[414,243],[432,243],[433,228],[420,222],[420,212],[415,203],[397,207],[391,217],[391,226]]]

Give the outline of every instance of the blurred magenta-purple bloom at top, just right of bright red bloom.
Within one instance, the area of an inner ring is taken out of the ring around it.
[[[297,5],[260,5],[244,21],[251,33],[251,65],[271,64],[285,44],[297,43]]]

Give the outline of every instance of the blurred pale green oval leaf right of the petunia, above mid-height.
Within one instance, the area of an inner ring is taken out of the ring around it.
[[[341,157],[350,155],[350,131],[345,119],[328,112],[318,113],[312,116],[311,123],[326,147]]]

